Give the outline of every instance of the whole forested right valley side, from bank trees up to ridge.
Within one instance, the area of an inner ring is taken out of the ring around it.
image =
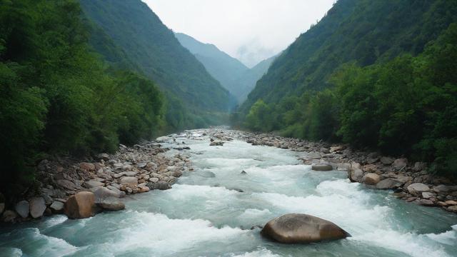
[[[457,2],[340,0],[273,62],[238,126],[457,171]]]

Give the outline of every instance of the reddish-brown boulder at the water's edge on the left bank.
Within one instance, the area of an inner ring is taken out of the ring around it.
[[[89,218],[94,215],[94,205],[94,193],[79,192],[68,198],[64,212],[69,218]]]

